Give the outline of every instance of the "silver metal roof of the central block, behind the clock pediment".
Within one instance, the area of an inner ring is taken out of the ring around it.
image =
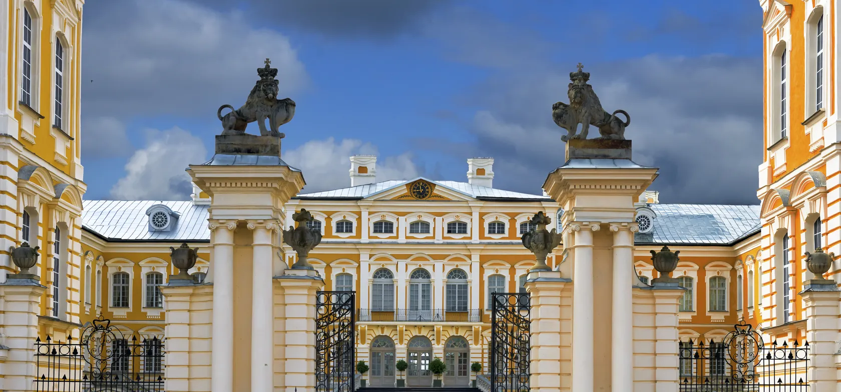
[[[351,186],[349,188],[340,188],[333,191],[322,191],[322,192],[314,192],[314,193],[303,193],[298,195],[297,197],[306,197],[306,198],[332,198],[332,197],[348,197],[348,198],[365,198],[368,196],[376,195],[383,191],[388,191],[390,189],[394,189],[398,186],[404,186],[407,183],[413,182],[415,180],[427,180],[432,183],[435,183],[438,186],[443,186],[451,191],[457,191],[462,193],[466,196],[470,197],[499,197],[499,198],[509,198],[509,199],[534,199],[535,201],[548,201],[552,200],[548,196],[542,195],[531,195],[528,193],[520,193],[514,191],[503,191],[501,189],[489,188],[487,186],[476,186],[470,184],[468,182],[458,182],[458,181],[440,181],[440,180],[429,180],[423,177],[418,177],[412,180],[389,180],[383,182],[375,182],[373,184],[368,184],[364,186]]]

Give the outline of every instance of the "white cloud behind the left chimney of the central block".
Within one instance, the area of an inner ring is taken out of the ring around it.
[[[307,181],[302,192],[316,192],[351,186],[349,157],[354,154],[377,154],[373,144],[357,139],[310,140],[297,149],[281,155],[288,165],[304,172]],[[377,158],[377,180],[409,180],[419,175],[412,155],[404,153]]]

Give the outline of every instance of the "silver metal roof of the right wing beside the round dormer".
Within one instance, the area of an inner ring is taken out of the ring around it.
[[[759,206],[649,204],[653,230],[635,243],[731,244],[759,231]]]

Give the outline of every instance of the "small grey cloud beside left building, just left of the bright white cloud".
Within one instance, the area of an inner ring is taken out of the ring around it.
[[[82,157],[114,158],[128,156],[132,147],[119,119],[103,116],[82,119]]]

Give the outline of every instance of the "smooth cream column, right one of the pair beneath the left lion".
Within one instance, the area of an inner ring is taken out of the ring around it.
[[[251,390],[273,389],[272,238],[278,223],[248,221],[253,235],[251,275]],[[215,391],[214,391],[215,392]]]

